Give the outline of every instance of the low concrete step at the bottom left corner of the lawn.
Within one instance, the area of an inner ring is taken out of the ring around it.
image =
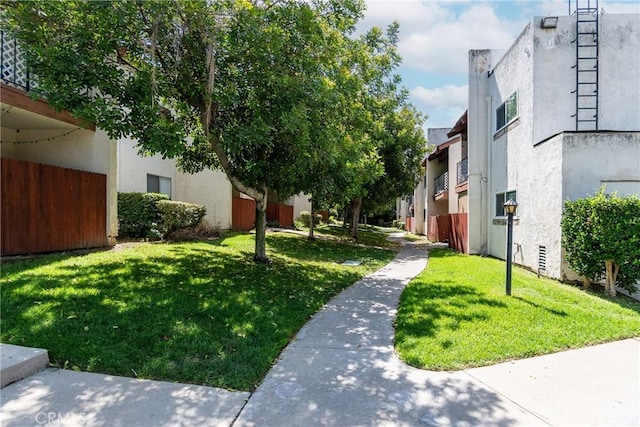
[[[0,344],[0,388],[40,372],[47,366],[47,350]]]

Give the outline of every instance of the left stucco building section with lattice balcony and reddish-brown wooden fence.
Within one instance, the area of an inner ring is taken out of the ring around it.
[[[118,234],[117,145],[28,92],[16,41],[0,32],[2,255],[90,248]]]

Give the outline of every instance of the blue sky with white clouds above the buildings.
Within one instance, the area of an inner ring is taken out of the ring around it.
[[[466,110],[470,49],[507,49],[534,16],[569,13],[568,0],[366,3],[360,29],[400,24],[398,50],[403,63],[398,72],[411,102],[429,117],[425,129],[452,127]],[[640,0],[600,0],[599,7],[605,13],[640,13]]]

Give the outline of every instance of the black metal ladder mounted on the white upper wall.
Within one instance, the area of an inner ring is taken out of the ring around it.
[[[573,7],[572,7],[573,5]],[[598,130],[598,0],[569,0],[576,18],[576,130]]]

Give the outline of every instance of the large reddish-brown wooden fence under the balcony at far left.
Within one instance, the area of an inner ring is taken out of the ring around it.
[[[2,255],[107,245],[107,176],[2,159]]]

